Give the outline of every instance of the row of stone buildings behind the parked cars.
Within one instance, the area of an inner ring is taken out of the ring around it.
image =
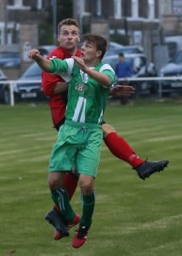
[[[0,0],[0,52],[19,52],[22,72],[28,49],[55,44],[58,22],[74,17],[82,32],[142,46],[156,61],[164,38],[182,34],[181,14],[182,0]]]

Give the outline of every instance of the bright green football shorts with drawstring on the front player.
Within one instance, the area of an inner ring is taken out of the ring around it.
[[[103,132],[100,125],[65,121],[54,144],[48,171],[69,172],[75,166],[80,174],[95,177],[100,162]]]

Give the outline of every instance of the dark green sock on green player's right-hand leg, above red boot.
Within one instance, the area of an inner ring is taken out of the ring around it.
[[[81,226],[87,226],[88,228],[92,224],[92,217],[94,213],[95,192],[90,195],[81,194],[82,200],[82,218],[80,219]]]

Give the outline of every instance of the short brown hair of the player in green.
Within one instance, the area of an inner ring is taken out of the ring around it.
[[[89,43],[94,43],[96,45],[96,49],[101,50],[102,54],[100,55],[100,60],[102,60],[105,55],[105,51],[107,49],[107,41],[105,38],[96,34],[86,34],[83,36],[83,40],[87,40]]]

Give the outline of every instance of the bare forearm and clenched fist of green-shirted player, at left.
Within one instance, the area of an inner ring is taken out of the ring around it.
[[[28,57],[36,61],[38,66],[41,67],[45,72],[50,70],[50,61],[44,58],[38,49],[31,49],[28,53]]]

